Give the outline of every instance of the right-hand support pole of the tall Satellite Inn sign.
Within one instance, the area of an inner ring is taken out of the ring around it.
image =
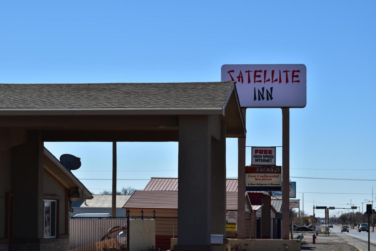
[[[290,110],[282,108],[282,239],[288,240],[290,216]]]

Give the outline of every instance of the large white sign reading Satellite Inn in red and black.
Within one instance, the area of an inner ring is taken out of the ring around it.
[[[221,81],[236,81],[241,107],[299,107],[307,103],[304,64],[224,64]]]

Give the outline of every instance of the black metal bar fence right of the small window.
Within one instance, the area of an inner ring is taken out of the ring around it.
[[[126,250],[126,229],[127,217],[70,217],[70,250]]]

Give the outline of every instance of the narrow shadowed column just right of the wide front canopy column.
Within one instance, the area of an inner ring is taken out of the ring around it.
[[[220,122],[220,140],[211,141],[211,234],[226,238],[226,122]]]

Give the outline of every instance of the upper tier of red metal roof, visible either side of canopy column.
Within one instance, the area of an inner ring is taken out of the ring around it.
[[[177,191],[177,178],[151,178],[145,191]],[[238,179],[226,179],[226,192],[238,191]]]

